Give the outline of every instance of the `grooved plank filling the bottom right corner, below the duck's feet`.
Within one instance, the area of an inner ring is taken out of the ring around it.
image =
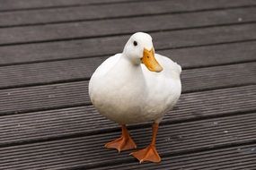
[[[255,167],[255,144],[214,149],[181,156],[163,157],[161,164],[122,163],[112,166],[93,168],[102,169],[252,169]]]

